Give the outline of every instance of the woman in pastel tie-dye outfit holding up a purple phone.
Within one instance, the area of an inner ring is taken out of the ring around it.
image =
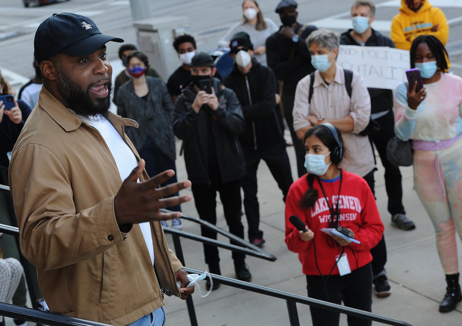
[[[462,78],[446,73],[446,58],[437,37],[418,36],[410,50],[409,82],[395,92],[395,133],[412,140],[414,187],[435,227],[446,275],[442,313],[462,301],[456,247],[456,231],[462,237]]]

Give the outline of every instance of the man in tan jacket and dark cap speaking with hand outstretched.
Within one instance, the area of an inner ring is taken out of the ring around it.
[[[164,325],[164,294],[186,299],[194,287],[186,288],[159,222],[181,217],[159,209],[191,196],[160,199],[191,182],[157,188],[172,170],[147,180],[125,134],[138,123],[109,112],[109,41],[123,42],[73,13],[37,29],[43,87],[9,169],[21,251],[37,266],[51,312],[114,326]]]

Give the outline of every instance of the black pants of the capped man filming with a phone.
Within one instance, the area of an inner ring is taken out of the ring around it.
[[[217,224],[217,201],[215,199],[216,192],[220,194],[221,203],[223,204],[223,210],[225,211],[225,219],[228,224],[229,231],[237,235],[240,238],[244,238],[244,227],[241,223],[241,181],[231,182],[211,182],[207,184],[193,184],[191,186],[194,195],[194,201],[196,205],[199,217],[212,224]],[[201,235],[207,238],[217,239],[217,233],[201,227]],[[239,245],[235,241],[231,241],[232,244]],[[204,244],[204,255],[205,262],[207,264],[216,264],[220,261],[218,256],[218,248]],[[243,260],[244,254],[232,253],[232,258],[237,260]]]

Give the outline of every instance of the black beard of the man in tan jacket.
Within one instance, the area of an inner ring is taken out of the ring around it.
[[[90,96],[90,86],[85,91],[80,85],[62,72],[61,69],[58,67],[56,68],[61,89],[60,93],[61,96],[66,99],[69,109],[84,117],[101,115],[107,118],[109,116],[110,93],[112,89],[112,82],[110,79],[107,84],[109,96],[98,98],[97,103],[95,103]]]

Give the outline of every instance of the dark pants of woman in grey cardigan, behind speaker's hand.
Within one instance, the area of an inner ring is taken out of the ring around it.
[[[148,137],[146,141],[141,147],[140,151],[138,152],[140,157],[143,158],[146,162],[146,173],[152,178],[154,175],[157,175],[165,170],[173,170],[175,171],[175,175],[173,175],[170,179],[162,183],[160,186],[164,187],[170,185],[172,183],[177,182],[176,180],[176,165],[175,161],[172,161],[167,155],[164,154]],[[167,197],[178,196],[179,193],[174,193],[173,195]],[[172,207],[168,207],[170,211],[181,211],[180,205],[175,205]]]

